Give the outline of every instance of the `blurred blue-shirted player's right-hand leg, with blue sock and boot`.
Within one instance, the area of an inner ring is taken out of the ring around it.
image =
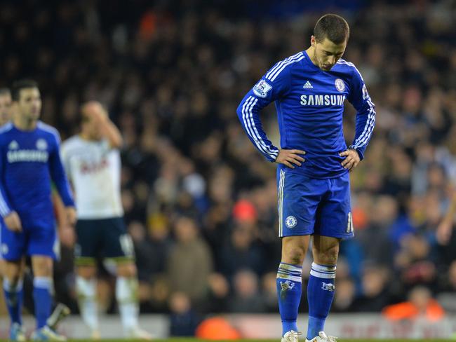
[[[42,255],[32,256],[33,299],[35,303],[36,331],[32,334],[34,341],[67,341],[47,325],[51,315],[53,292],[53,259]]]

